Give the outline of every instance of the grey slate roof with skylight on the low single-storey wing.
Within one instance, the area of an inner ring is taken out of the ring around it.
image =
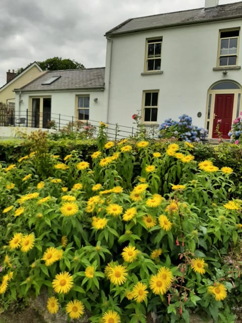
[[[92,69],[46,71],[45,74],[21,87],[21,91],[51,91],[71,89],[103,89],[105,67]],[[61,76],[51,84],[42,85],[53,76]]]

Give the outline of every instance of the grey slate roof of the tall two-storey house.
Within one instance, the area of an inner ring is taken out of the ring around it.
[[[105,36],[236,18],[242,18],[242,2],[128,19],[107,31]]]

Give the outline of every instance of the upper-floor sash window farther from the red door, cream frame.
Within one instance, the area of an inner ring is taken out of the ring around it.
[[[162,38],[146,40],[145,71],[158,71],[161,68],[161,43]]]

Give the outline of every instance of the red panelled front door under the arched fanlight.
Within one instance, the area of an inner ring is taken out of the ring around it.
[[[213,138],[218,138],[219,135],[216,131],[219,122],[219,132],[222,133],[221,137],[229,139],[228,132],[231,129],[232,114],[233,114],[233,97],[234,94],[216,94],[214,105],[213,117]]]

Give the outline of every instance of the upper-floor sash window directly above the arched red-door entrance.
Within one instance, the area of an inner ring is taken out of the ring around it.
[[[239,29],[220,30],[218,66],[237,65]]]

